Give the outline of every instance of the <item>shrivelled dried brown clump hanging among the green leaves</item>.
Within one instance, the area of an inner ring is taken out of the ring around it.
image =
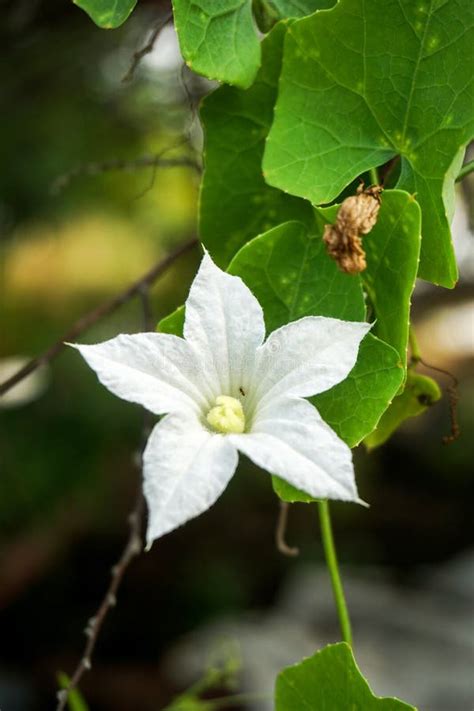
[[[358,274],[367,266],[360,236],[368,234],[377,222],[382,190],[380,185],[366,190],[360,185],[357,194],[342,203],[336,224],[324,228],[323,239],[328,254],[347,274]]]

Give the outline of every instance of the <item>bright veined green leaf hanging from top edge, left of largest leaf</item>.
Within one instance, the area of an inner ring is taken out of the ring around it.
[[[247,87],[260,66],[252,0],[173,0],[186,64],[209,79]]]

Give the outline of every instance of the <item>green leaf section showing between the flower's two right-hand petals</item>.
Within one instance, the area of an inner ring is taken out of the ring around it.
[[[369,333],[349,376],[310,399],[339,437],[355,447],[377,426],[404,375],[397,351]]]

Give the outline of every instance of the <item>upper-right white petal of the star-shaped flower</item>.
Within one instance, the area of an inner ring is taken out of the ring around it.
[[[273,331],[258,349],[255,395],[308,397],[346,378],[371,324],[306,316]]]

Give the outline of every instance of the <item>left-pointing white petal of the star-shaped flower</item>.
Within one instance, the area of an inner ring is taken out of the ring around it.
[[[192,346],[165,333],[122,334],[93,346],[70,344],[114,395],[155,414],[200,411],[212,403]]]

